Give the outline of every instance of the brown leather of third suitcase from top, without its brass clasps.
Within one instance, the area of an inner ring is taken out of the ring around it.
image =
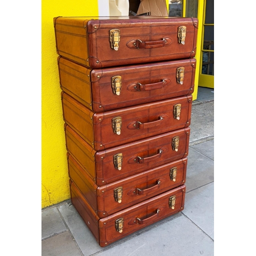
[[[174,105],[181,104],[180,119]],[[154,101],[127,108],[93,113],[67,93],[62,93],[63,118],[96,151],[187,127],[192,95]],[[121,134],[113,131],[112,119],[121,117]]]

